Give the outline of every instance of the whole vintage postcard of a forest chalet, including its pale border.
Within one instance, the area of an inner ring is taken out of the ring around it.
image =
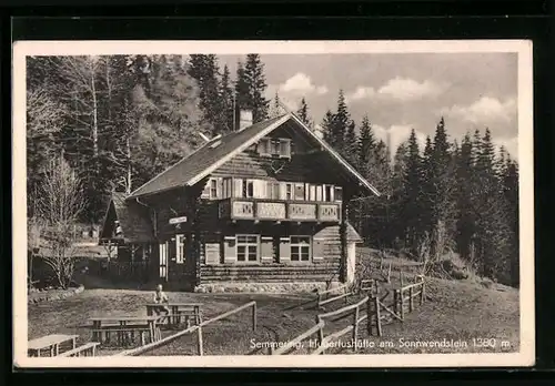
[[[532,85],[517,40],[16,42],[16,365],[533,365]]]

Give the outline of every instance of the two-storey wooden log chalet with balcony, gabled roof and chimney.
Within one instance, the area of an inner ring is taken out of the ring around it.
[[[101,232],[118,261],[178,291],[310,291],[352,282],[350,199],[379,192],[294,114],[208,140],[128,196]]]

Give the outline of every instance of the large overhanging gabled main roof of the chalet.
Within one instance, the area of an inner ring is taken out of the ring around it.
[[[312,132],[294,114],[287,113],[281,116],[255,123],[241,131],[230,133],[222,138],[215,138],[192,152],[173,166],[170,166],[152,180],[132,192],[129,197],[139,197],[153,193],[160,193],[179,186],[192,186],[202,179],[210,175],[214,170],[231,160],[234,155],[243,152],[249,146],[280,128],[285,122],[294,122],[301,130],[312,136],[326,152],[335,159],[351,175],[359,180],[360,184],[380,195],[380,192],[370,184],[356,170],[349,164],[335,150]]]

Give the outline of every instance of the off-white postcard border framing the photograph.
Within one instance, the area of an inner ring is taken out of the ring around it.
[[[89,54],[260,54],[516,52],[521,240],[521,351],[509,354],[163,356],[31,358],[27,356],[26,57]],[[534,158],[532,42],[431,41],[18,41],[12,48],[13,354],[18,367],[505,367],[535,362]]]

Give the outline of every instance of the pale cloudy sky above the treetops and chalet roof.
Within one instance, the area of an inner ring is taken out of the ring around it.
[[[234,77],[244,55],[219,55]],[[517,53],[262,54],[266,98],[275,92],[296,110],[302,96],[321,123],[343,90],[352,119],[367,115],[375,134],[391,132],[395,149],[412,129],[421,144],[441,116],[450,140],[488,128],[517,159]]]

